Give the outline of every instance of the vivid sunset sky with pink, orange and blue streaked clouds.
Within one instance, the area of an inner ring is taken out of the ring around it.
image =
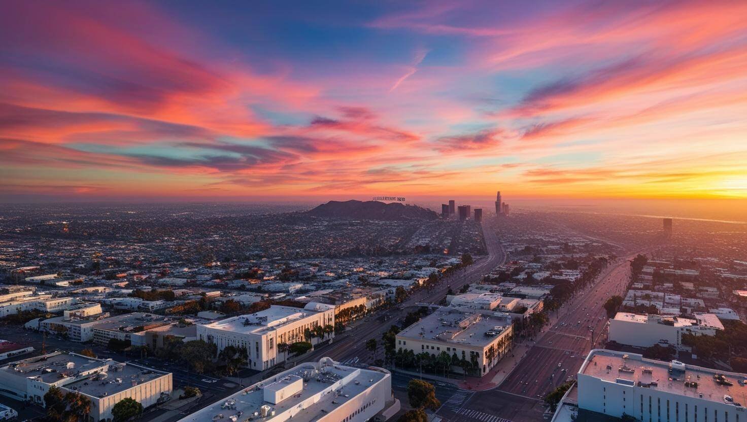
[[[3,2],[0,198],[499,188],[747,197],[747,1]]]

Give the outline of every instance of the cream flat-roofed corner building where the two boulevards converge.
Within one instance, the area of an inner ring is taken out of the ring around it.
[[[398,350],[412,350],[415,355],[456,355],[457,359],[471,362],[482,376],[508,353],[512,327],[508,314],[439,308],[397,333],[396,346]]]

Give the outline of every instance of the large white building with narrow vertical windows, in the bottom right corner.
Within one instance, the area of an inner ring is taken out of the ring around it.
[[[581,412],[630,415],[642,422],[747,421],[743,373],[592,350],[577,379]]]

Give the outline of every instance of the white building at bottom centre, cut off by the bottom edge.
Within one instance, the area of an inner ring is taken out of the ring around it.
[[[244,388],[179,422],[385,421],[398,404],[387,370],[347,367],[323,358]]]

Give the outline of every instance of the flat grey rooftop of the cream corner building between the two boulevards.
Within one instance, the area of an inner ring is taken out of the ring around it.
[[[439,308],[433,314],[403,329],[397,337],[485,347],[510,325],[510,317]],[[488,332],[496,334],[487,334]]]

